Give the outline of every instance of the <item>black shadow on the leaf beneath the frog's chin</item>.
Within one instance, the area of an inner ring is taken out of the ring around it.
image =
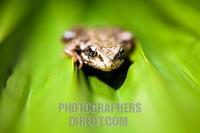
[[[132,61],[125,60],[118,69],[112,70],[111,72],[104,72],[88,65],[85,65],[82,70],[89,86],[88,77],[96,76],[99,80],[112,87],[114,90],[118,90],[123,85],[131,64],[133,64]]]

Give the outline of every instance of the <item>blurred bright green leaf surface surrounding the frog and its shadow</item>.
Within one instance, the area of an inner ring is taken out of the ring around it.
[[[62,33],[76,25],[137,38],[118,90],[63,55]],[[199,39],[199,0],[1,0],[0,132],[198,133]],[[128,127],[70,127],[60,102],[140,102],[142,112],[112,114]]]

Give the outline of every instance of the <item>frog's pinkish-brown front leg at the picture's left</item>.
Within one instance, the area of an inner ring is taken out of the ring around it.
[[[78,61],[78,63],[79,63],[78,68],[81,69],[83,67],[83,60],[82,60],[81,56],[77,53],[76,49],[77,49],[77,47],[75,47],[75,46],[67,45],[64,49],[64,53],[71,56],[73,58],[74,62]]]

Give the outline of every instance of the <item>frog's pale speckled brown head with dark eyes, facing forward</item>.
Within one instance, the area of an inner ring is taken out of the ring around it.
[[[111,71],[123,63],[125,50],[119,44],[112,47],[92,44],[83,50],[81,56],[85,64],[102,71]]]

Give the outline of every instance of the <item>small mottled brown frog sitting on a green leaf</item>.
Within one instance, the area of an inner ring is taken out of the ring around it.
[[[135,46],[133,34],[119,27],[75,27],[64,31],[62,41],[78,69],[87,65],[105,72],[119,68]]]

